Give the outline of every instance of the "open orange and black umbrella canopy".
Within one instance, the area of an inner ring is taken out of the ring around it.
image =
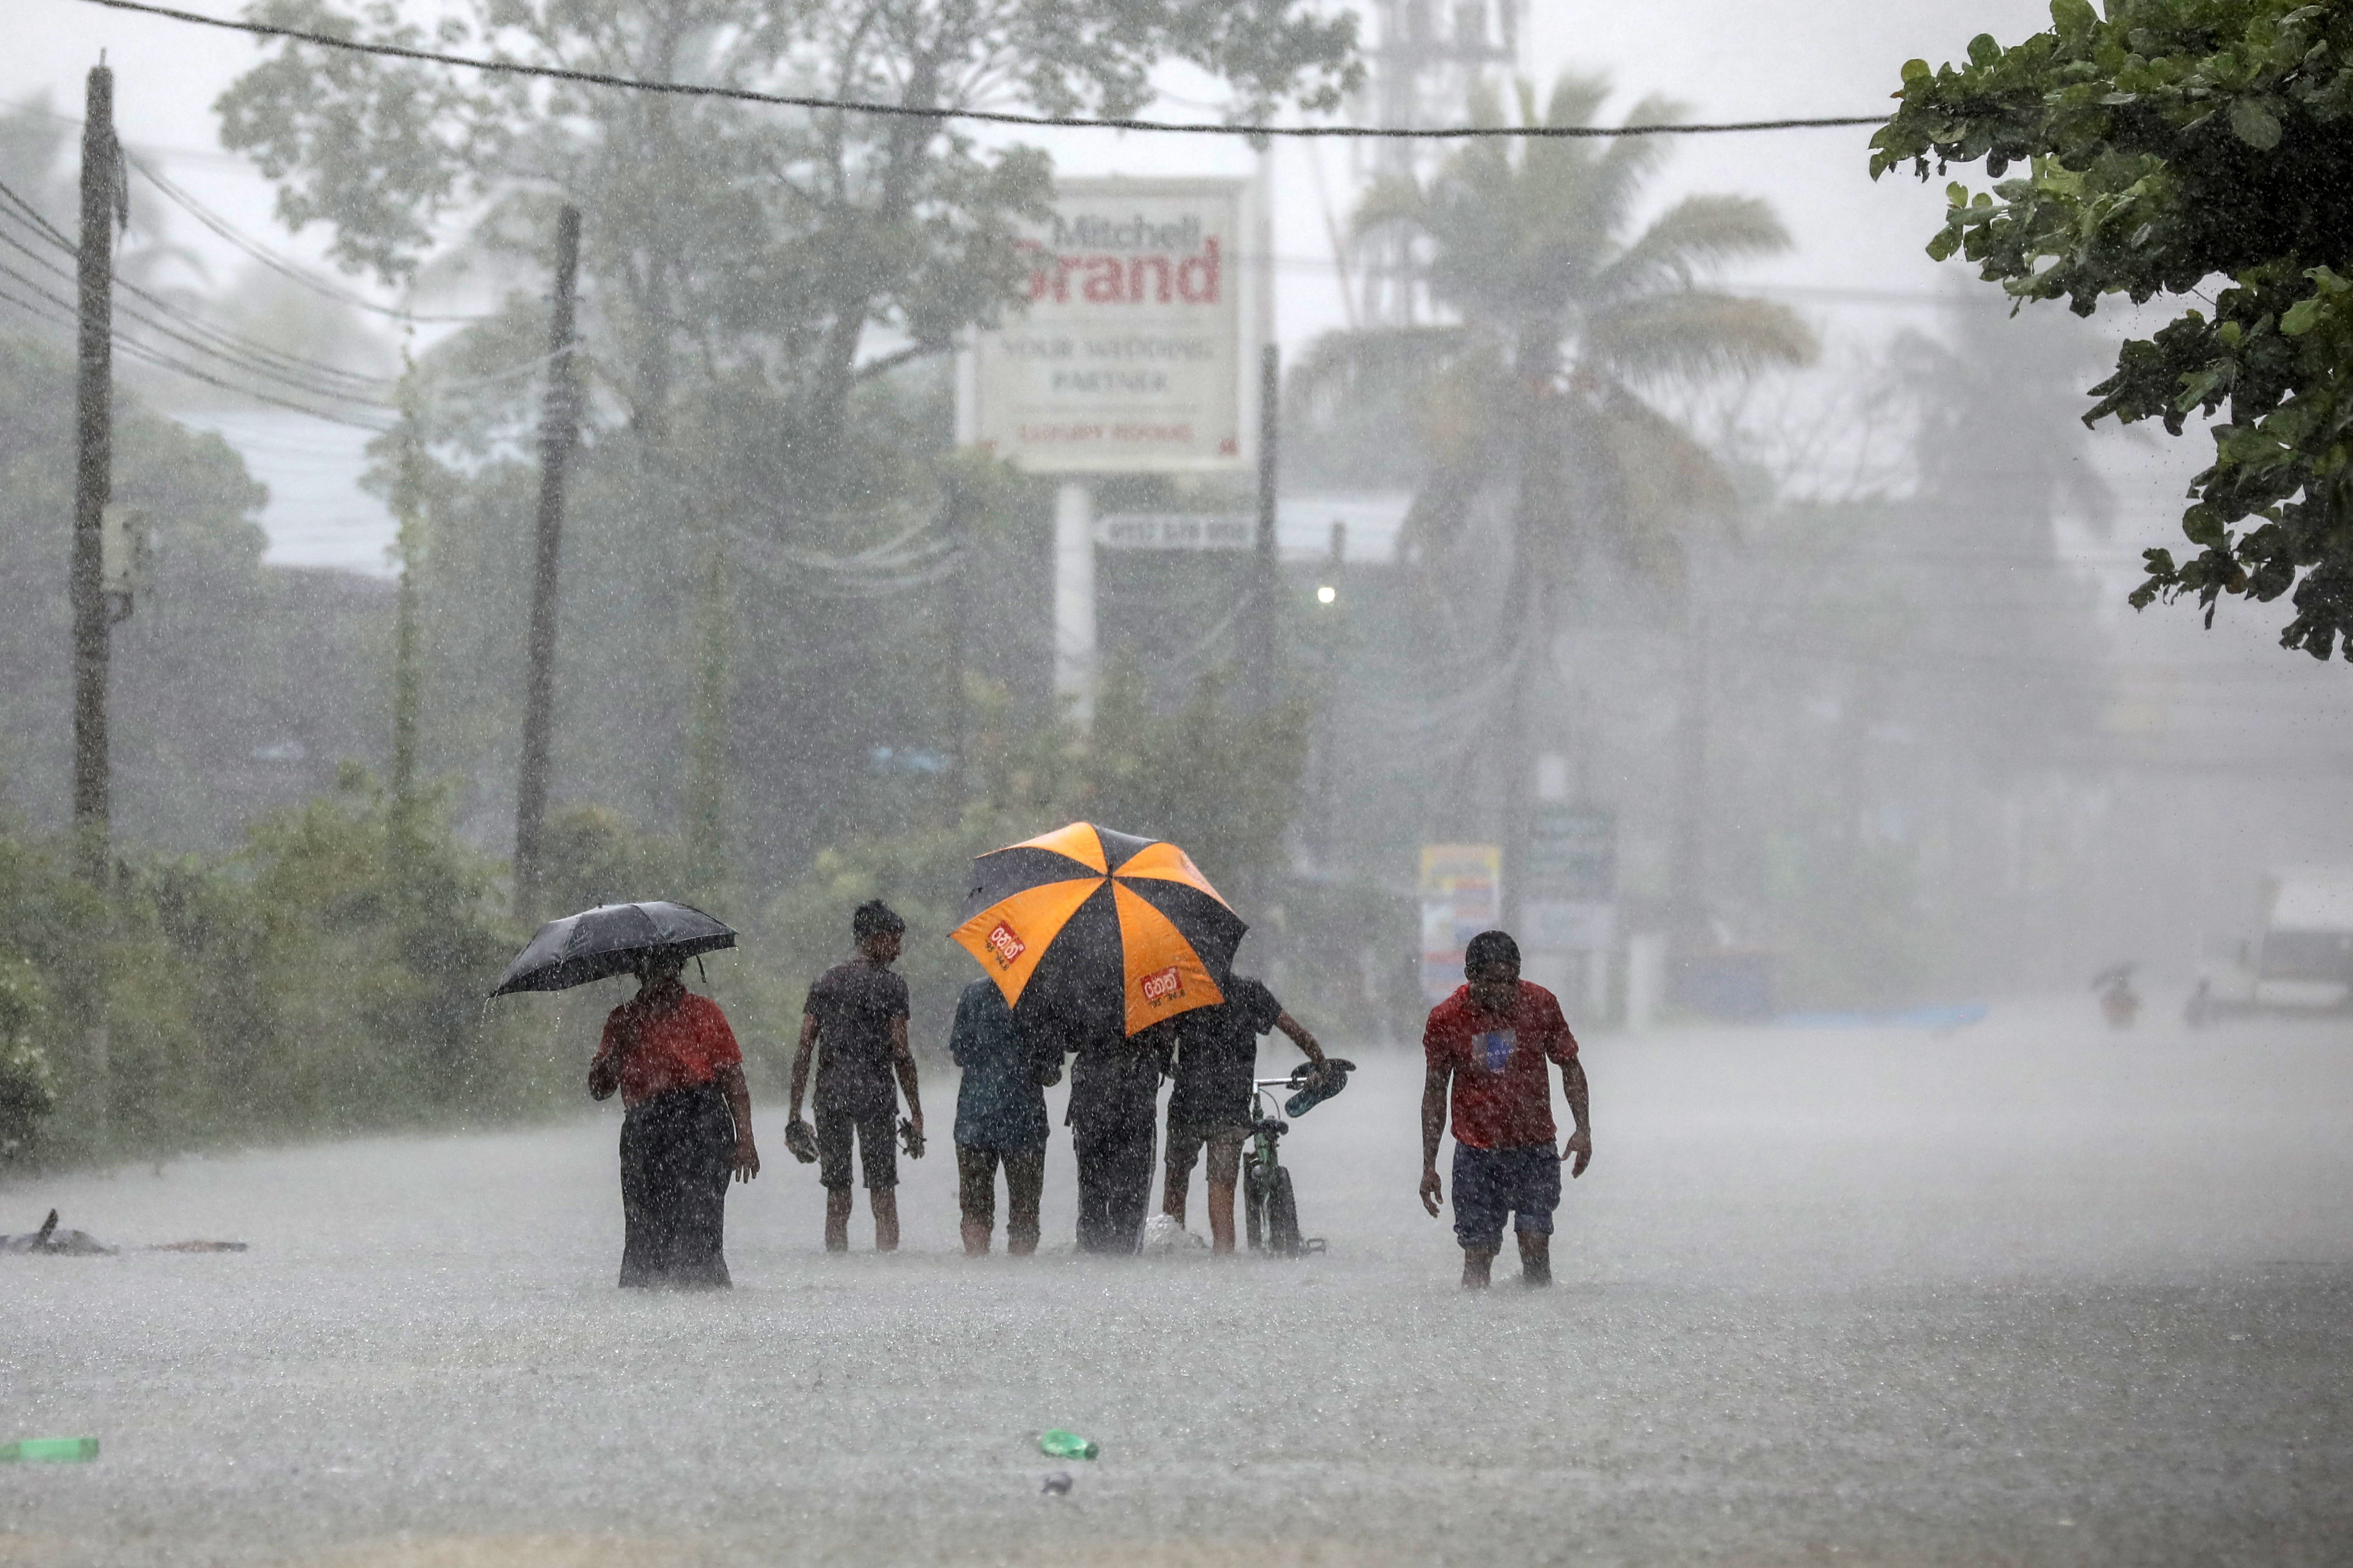
[[[1134,1034],[1224,1001],[1247,929],[1174,844],[1071,823],[974,860],[951,936],[1016,1013]]]

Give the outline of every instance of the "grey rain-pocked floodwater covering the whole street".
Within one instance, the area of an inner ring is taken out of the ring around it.
[[[1049,1255],[967,1262],[944,1135],[906,1251],[861,1204],[826,1258],[779,1107],[727,1295],[612,1288],[612,1119],[0,1187],[125,1244],[0,1258],[0,1439],[104,1441],[0,1467],[0,1563],[2353,1554],[2344,1023],[1598,1037],[1560,1286],[1485,1298],[1419,1065],[1355,1056],[1285,1147],[1299,1262],[1071,1258],[1059,1138]],[[252,1251],[129,1251],[191,1237]]]

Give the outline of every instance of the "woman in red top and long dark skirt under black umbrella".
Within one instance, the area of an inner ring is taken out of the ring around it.
[[[727,1016],[649,952],[638,994],[605,1018],[588,1095],[621,1093],[621,1286],[725,1288],[727,1178],[760,1175],[744,1051]]]

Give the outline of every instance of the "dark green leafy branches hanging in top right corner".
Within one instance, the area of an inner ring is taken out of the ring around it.
[[[1993,188],[1948,186],[1929,254],[2019,306],[2221,280],[2212,315],[2125,343],[2085,414],[2214,418],[2198,550],[2148,550],[2134,607],[2193,595],[2212,623],[2221,595],[2292,595],[2282,646],[2353,658],[2353,5],[2052,0],[2052,31],[1908,61],[1897,96],[1871,174],[1984,160]]]

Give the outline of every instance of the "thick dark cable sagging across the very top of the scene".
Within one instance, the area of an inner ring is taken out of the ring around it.
[[[226,28],[256,38],[287,38],[318,45],[322,49],[348,49],[353,54],[381,54],[388,59],[414,59],[435,66],[464,66],[468,71],[492,71],[501,75],[534,75],[551,82],[584,82],[588,87],[626,87],[631,92],[661,92],[682,99],[734,99],[739,103],[774,103],[779,108],[816,108],[852,115],[894,115],[901,120],[981,120],[988,125],[1028,125],[1040,129],[1087,129],[1087,132],[1158,132],[1167,136],[1313,136],[1351,141],[1497,141],[1532,136],[1546,141],[1586,136],[1720,136],[1737,132],[1802,132],[1833,129],[1847,125],[1887,125],[1887,115],[1826,115],[1807,120],[1725,120],[1713,125],[1457,125],[1435,129],[1412,129],[1395,125],[1217,125],[1209,120],[1111,120],[1092,115],[1021,115],[1000,108],[922,108],[913,103],[868,103],[859,99],[819,99],[784,92],[755,92],[751,87],[715,87],[701,82],[647,82],[633,75],[609,75],[605,71],[567,71],[562,66],[527,66],[522,61],[475,59],[468,54],[438,54],[433,49],[407,49],[402,45],[362,42],[358,38],[334,38],[329,33],[306,33],[280,28],[266,21],[231,21],[226,16],[202,16],[198,12],[172,9],[169,5],[144,5],[141,0],[85,0],[115,12],[139,12],[167,21],[188,21],[202,28]]]

